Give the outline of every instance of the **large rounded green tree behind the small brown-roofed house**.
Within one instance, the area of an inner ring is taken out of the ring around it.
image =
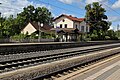
[[[23,9],[23,12],[19,13],[17,16],[17,21],[19,23],[20,29],[22,29],[28,22],[41,22],[44,24],[52,24],[52,14],[45,7],[35,8],[32,5],[29,5]]]

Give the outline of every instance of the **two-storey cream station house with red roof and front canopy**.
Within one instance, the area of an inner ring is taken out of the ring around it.
[[[89,32],[89,26],[85,22],[85,18],[77,18],[71,15],[62,14],[54,19],[54,28],[61,41],[77,40],[79,34]]]

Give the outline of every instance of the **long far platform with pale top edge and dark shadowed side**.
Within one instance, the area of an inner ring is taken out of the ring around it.
[[[1,44],[0,55],[46,51],[46,50],[57,50],[67,49],[75,47],[95,46],[104,44],[117,44],[119,41],[95,41],[95,42],[48,42],[48,43],[12,43],[12,44]]]

